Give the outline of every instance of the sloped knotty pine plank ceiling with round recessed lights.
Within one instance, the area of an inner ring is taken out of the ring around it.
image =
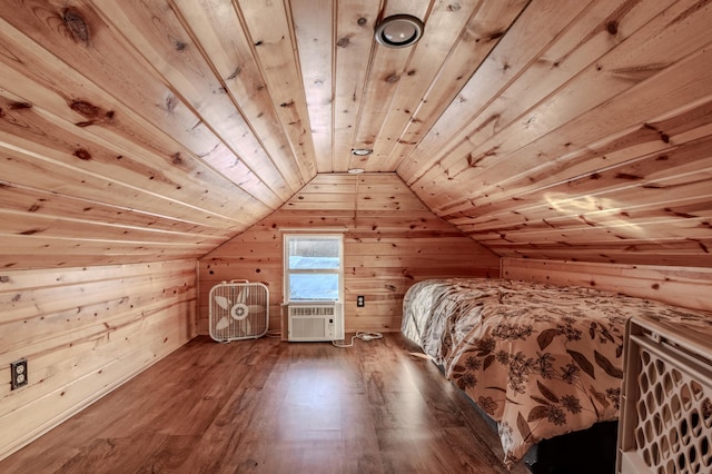
[[[394,13],[416,46],[374,41]],[[196,258],[363,168],[501,256],[712,267],[710,24],[702,0],[0,0],[0,266]]]

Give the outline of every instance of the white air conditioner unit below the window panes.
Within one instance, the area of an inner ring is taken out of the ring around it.
[[[338,303],[289,303],[287,312],[290,342],[344,338],[344,313]]]

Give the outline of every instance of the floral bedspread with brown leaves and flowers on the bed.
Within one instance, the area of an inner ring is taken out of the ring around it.
[[[585,287],[437,279],[404,298],[403,333],[498,424],[512,466],[543,438],[616,419],[625,322],[712,314]]]

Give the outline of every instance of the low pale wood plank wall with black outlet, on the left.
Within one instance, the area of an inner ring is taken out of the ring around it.
[[[196,307],[195,260],[0,273],[0,458],[190,340]]]

